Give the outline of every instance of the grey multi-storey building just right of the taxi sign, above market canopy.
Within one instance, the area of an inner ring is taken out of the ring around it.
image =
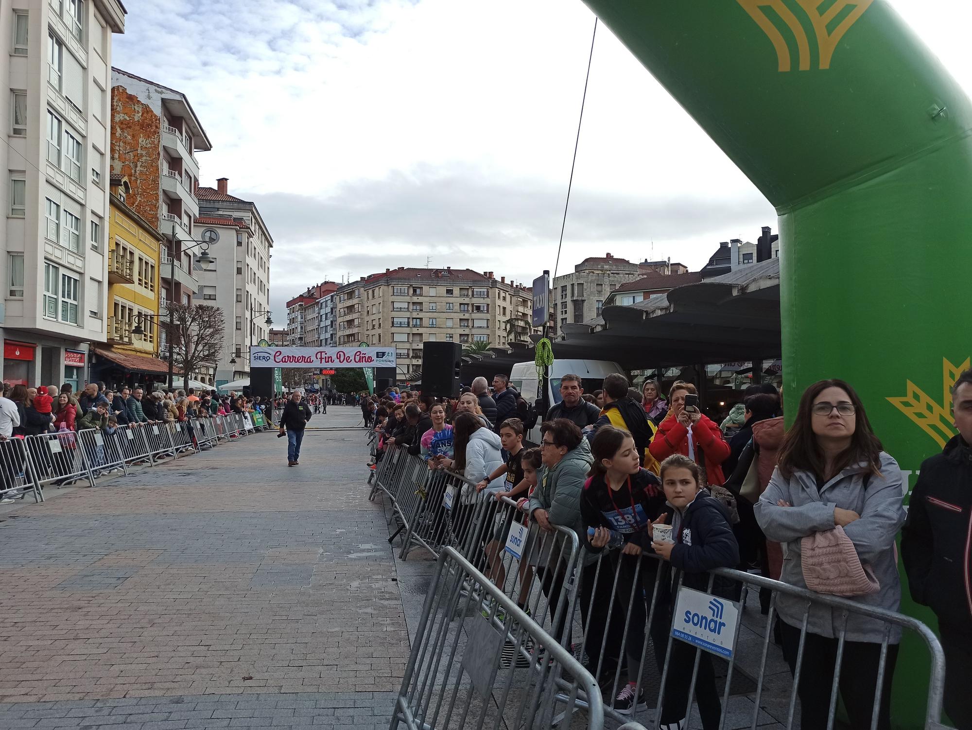
[[[610,254],[589,257],[576,264],[571,273],[553,280],[550,309],[557,331],[568,323],[583,323],[599,317],[611,292],[642,275],[638,263]]]

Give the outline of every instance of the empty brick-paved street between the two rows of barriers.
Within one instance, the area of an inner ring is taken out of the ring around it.
[[[408,635],[364,435],[286,451],[251,435],[4,505],[0,728],[387,727]]]

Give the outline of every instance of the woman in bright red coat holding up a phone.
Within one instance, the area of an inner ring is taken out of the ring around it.
[[[669,412],[651,439],[648,451],[659,462],[672,454],[687,456],[706,469],[706,482],[721,485],[725,481],[722,462],[730,453],[717,424],[701,410],[685,410],[685,396],[697,395],[691,383],[676,383],[669,394]],[[701,454],[701,456],[700,456]]]

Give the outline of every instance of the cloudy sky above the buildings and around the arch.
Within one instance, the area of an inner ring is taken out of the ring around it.
[[[972,88],[967,0],[891,0]],[[399,265],[553,270],[594,16],[579,0],[126,0],[114,65],[184,91],[204,185],[255,200],[271,308]],[[598,26],[559,271],[701,267],[776,215]]]

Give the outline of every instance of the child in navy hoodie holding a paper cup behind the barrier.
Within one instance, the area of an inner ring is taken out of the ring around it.
[[[682,585],[709,591],[713,568],[734,568],[739,563],[739,544],[729,525],[726,507],[699,488],[699,467],[687,456],[673,454],[661,464],[660,476],[670,507],[668,524],[672,542],[653,540],[651,547],[663,560],[672,563],[673,585],[681,574]],[[716,578],[713,592],[727,595],[731,585]],[[672,605],[676,601],[673,599]],[[695,701],[699,705],[705,730],[718,730],[722,703],[715,689],[715,674],[709,652],[674,639],[669,654],[669,674],[662,700],[660,730],[679,730],[688,707],[688,688],[692,678],[696,651],[699,674],[695,684]]]

